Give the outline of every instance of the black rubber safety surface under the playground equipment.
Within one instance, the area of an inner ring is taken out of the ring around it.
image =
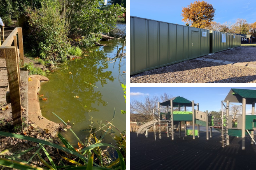
[[[200,132],[200,138],[192,136],[178,137],[178,132],[167,137],[162,132],[162,139],[154,132],[137,137],[130,133],[130,168],[140,170],[253,170],[256,168],[256,146],[245,137],[246,150],[241,149],[241,137],[230,136],[230,145],[222,148],[220,132],[213,132],[206,140],[206,133]],[[184,131],[182,136],[184,136]]]

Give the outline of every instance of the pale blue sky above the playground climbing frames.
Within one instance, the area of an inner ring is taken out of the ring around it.
[[[238,88],[236,89],[252,89],[256,90],[256,88]],[[221,101],[224,100],[230,91],[231,88],[222,88],[222,87],[131,87],[130,88],[130,100],[139,100],[143,101],[145,96],[160,96],[163,93],[168,93],[174,97],[181,96],[190,101],[194,100],[195,103],[199,103],[200,111],[219,111],[221,110]],[[160,101],[161,102],[161,101]],[[236,105],[240,105],[239,103],[234,103]],[[242,104],[241,104],[242,105]],[[195,107],[196,108],[196,107]],[[191,107],[188,108],[191,110]],[[246,113],[251,113],[251,105],[246,105]]]

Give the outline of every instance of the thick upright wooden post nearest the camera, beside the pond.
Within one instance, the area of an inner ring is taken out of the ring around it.
[[[15,47],[5,47],[5,61],[10,88],[13,125],[22,125],[20,85]]]

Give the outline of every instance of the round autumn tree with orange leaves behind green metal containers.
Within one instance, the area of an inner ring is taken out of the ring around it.
[[[181,16],[182,21],[192,24],[192,27],[205,28],[211,25],[213,20],[215,9],[212,4],[205,1],[195,1],[188,5],[188,7],[182,7]]]

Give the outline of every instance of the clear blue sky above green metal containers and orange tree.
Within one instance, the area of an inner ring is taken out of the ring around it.
[[[182,7],[187,7],[191,0],[130,0],[130,15],[185,25],[182,22]],[[215,9],[214,21],[235,23],[237,18],[247,20],[248,23],[256,22],[255,2],[252,0],[206,0]]]

